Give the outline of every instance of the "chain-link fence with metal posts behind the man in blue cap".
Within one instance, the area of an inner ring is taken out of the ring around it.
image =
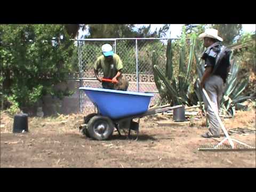
[[[129,81],[128,91],[153,92],[150,105],[155,105],[160,97],[154,82],[152,53],[157,52],[158,66],[164,71],[166,63],[166,38],[116,38],[116,39],[77,39],[79,86],[101,87],[95,79],[93,66],[102,54],[101,46],[110,44],[123,62],[123,75]],[[99,71],[103,76],[102,71]],[[79,93],[80,112],[93,113],[94,106],[84,92]]]

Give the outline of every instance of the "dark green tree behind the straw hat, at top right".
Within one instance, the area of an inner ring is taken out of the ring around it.
[[[242,24],[213,24],[211,27],[219,31],[225,45],[233,44],[234,39],[242,33]]]

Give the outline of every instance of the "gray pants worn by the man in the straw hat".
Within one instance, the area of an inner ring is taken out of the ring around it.
[[[211,99],[214,110],[219,112],[220,101],[223,94],[223,80],[220,76],[212,75],[206,79],[204,84],[204,89]],[[206,100],[203,94],[204,107],[206,111],[206,118],[209,121],[209,132],[213,135],[220,135],[220,125],[217,120],[217,117],[214,115],[212,108],[210,107],[208,101]]]

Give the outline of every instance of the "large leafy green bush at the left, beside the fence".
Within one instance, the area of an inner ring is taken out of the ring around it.
[[[54,88],[73,68],[74,42],[63,25],[1,25],[0,35],[5,107],[30,107],[46,94],[69,95]]]

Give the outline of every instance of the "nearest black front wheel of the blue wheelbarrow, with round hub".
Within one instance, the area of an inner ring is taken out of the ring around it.
[[[87,125],[90,137],[96,140],[106,140],[114,131],[111,119],[100,115],[93,116]]]

